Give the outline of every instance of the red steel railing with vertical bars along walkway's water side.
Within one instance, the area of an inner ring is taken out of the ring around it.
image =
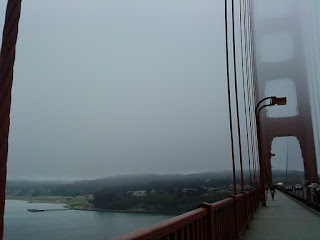
[[[243,192],[113,240],[239,239],[259,203],[259,190]]]

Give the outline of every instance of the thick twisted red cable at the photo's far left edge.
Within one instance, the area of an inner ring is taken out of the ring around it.
[[[20,12],[21,0],[9,0],[0,54],[0,239],[3,237],[11,88]]]

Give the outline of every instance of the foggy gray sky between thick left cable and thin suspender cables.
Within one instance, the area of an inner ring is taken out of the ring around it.
[[[23,1],[8,178],[231,169],[223,1]]]

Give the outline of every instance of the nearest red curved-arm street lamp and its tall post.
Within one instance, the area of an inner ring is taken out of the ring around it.
[[[266,100],[270,100],[270,102],[268,104],[263,105],[262,107],[260,107],[261,103],[266,101]],[[260,184],[261,184],[261,195],[262,195],[262,206],[266,206],[266,196],[265,196],[265,158],[262,155],[262,146],[261,146],[261,129],[260,129],[260,118],[259,118],[259,114],[260,111],[266,107],[269,106],[274,106],[274,105],[286,105],[287,104],[287,98],[286,97],[276,97],[276,96],[272,96],[272,97],[266,97],[263,98],[259,101],[259,103],[257,104],[256,108],[255,108],[255,114],[256,114],[256,125],[257,125],[257,137],[258,137],[258,150],[259,150],[259,164],[260,164]],[[270,153],[270,155],[272,156],[273,154]]]

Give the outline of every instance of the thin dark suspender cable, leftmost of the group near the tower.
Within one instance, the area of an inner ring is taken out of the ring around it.
[[[227,67],[227,83],[228,83],[228,105],[229,105],[229,127],[231,139],[231,155],[232,155],[232,168],[233,168],[233,192],[236,195],[236,166],[234,160],[234,139],[233,139],[233,126],[232,126],[232,110],[231,110],[231,91],[230,91],[230,74],[229,74],[229,47],[228,47],[228,0],[225,0],[225,38],[226,38],[226,67]]]

